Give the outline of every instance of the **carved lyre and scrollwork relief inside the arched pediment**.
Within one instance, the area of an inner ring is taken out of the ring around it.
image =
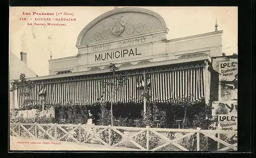
[[[114,38],[122,37],[124,34],[131,36],[133,34],[146,33],[159,30],[159,27],[154,27],[151,22],[134,22],[131,16],[123,18],[123,16],[115,17],[110,24],[102,26],[101,32],[93,33],[89,36],[89,41],[102,42],[108,40],[110,36]]]

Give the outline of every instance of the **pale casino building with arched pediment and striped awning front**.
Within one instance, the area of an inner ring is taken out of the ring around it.
[[[100,81],[112,80],[108,68],[116,63],[117,73],[127,72],[129,80],[114,96],[114,104],[143,103],[138,86],[144,83],[150,86],[153,102],[192,94],[206,102],[215,100],[218,94],[211,87],[218,82],[211,82],[211,58],[222,56],[223,34],[217,27],[214,32],[167,39],[168,28],[158,13],[134,7],[111,10],[81,30],[76,56],[50,59],[49,76],[29,78],[37,84],[30,99],[38,100],[43,87],[45,105],[94,105],[102,96]],[[17,97],[22,107],[24,99]],[[110,97],[102,101],[110,102]]]

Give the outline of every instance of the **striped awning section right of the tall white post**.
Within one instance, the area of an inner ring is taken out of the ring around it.
[[[195,100],[204,97],[203,67],[152,73],[152,101],[168,102],[170,99],[195,95]]]

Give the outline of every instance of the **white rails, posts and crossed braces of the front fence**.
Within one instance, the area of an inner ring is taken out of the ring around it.
[[[12,127],[13,125],[13,127]],[[30,126],[30,127],[26,127]],[[43,128],[43,126],[47,126],[46,128]],[[63,127],[63,128],[62,128]],[[74,127],[70,130],[70,128],[66,127]],[[15,129],[18,128],[18,131],[15,131]],[[20,133],[21,129],[23,129],[23,133]],[[94,130],[98,129],[98,130]],[[101,129],[101,130],[100,130]],[[131,136],[127,136],[127,132],[121,132],[121,130],[126,130],[126,131],[136,131],[135,133],[131,133]],[[31,131],[32,130],[32,131]],[[58,132],[63,132],[63,136],[58,136]],[[69,130],[69,131],[67,131]],[[83,130],[83,132],[82,132]],[[40,131],[41,133],[38,133]],[[103,131],[106,131],[108,133],[108,138],[100,138],[100,133]],[[113,132],[119,134],[121,136],[121,140],[117,143],[111,143],[113,140],[111,137],[111,134]],[[138,134],[141,134],[143,132],[146,132],[146,146],[141,146],[140,144],[136,143],[134,141],[134,137],[138,136]],[[149,143],[149,138],[150,134],[148,132],[154,133],[157,137],[163,139],[166,141],[166,143],[155,147],[154,149],[150,149],[148,146],[150,145]],[[162,132],[177,132],[177,133],[182,133],[181,136],[178,138],[175,138],[173,140],[170,140],[167,138],[167,136],[164,136]],[[200,151],[200,137],[199,134],[203,134],[207,138],[211,138],[212,140],[215,140],[216,142],[219,142],[226,147],[223,147],[219,150],[228,150],[229,148],[237,147],[237,143],[234,144],[229,144],[219,138],[216,138],[214,134],[238,134],[238,131],[225,131],[225,130],[203,130],[201,128],[197,129],[173,129],[173,128],[150,128],[149,126],[146,127],[122,127],[122,126],[100,126],[100,125],[94,125],[94,124],[38,124],[38,123],[10,123],[10,133],[13,133],[16,137],[26,137],[27,134],[29,134],[29,137],[32,137],[34,139],[42,139],[44,136],[46,139],[51,139],[51,140],[56,140],[56,141],[61,141],[63,138],[66,136],[69,137],[72,141],[75,141],[77,143],[86,143],[86,142],[91,142],[92,139],[95,139],[96,141],[100,142],[103,145],[106,146],[117,146],[123,142],[131,142],[134,144],[136,147],[140,148],[141,150],[158,150],[162,147],[165,147],[169,144],[172,144],[179,149],[183,151],[188,151],[188,149],[182,147],[181,145],[178,144],[179,140],[184,139],[185,137],[192,136],[196,134],[196,143],[197,143],[197,151]],[[52,135],[54,134],[54,135]],[[76,134],[76,137],[74,136]],[[82,138],[83,135],[83,138]],[[77,138],[79,136],[79,138]],[[67,138],[66,140],[67,141]]]

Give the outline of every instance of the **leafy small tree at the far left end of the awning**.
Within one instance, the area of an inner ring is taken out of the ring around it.
[[[18,88],[22,88],[22,87],[28,87],[28,89],[31,89],[35,86],[36,84],[31,81],[31,80],[27,80],[26,75],[25,74],[20,74],[19,75],[19,80],[14,80],[11,83],[11,88],[10,88],[10,92],[15,91]],[[20,93],[20,96],[22,96],[23,98],[25,98],[24,101],[24,106],[33,104],[35,102],[35,100],[29,100],[28,97],[31,96],[32,94],[29,92],[26,92],[25,90]],[[14,109],[13,109],[14,110]],[[14,115],[15,116],[15,115]]]

